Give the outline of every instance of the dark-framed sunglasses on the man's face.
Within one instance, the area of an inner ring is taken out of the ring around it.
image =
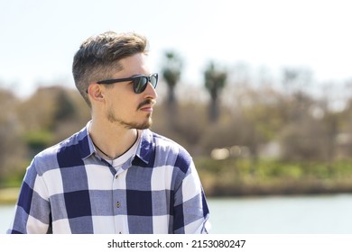
[[[158,74],[152,74],[150,76],[132,76],[129,78],[118,78],[118,79],[106,79],[97,81],[97,84],[114,84],[118,82],[131,81],[134,84],[134,93],[141,94],[144,92],[146,85],[150,82],[153,88],[158,84]]]

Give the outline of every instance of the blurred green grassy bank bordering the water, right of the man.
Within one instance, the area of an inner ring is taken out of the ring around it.
[[[324,162],[260,159],[255,176],[248,159],[197,157],[195,163],[208,196],[352,193],[352,159],[337,161],[332,173]]]

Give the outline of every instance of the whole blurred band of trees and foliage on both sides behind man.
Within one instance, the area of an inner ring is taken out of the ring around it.
[[[255,85],[245,67],[224,72],[214,63],[204,85],[186,85],[180,56],[168,52],[166,61],[173,82],[160,79],[152,130],[190,151],[209,195],[352,192],[352,95],[335,109],[333,93],[306,91],[308,71],[290,68],[282,82]],[[0,187],[19,184],[36,153],[90,120],[79,93],[64,86],[42,86],[25,99],[0,89]],[[174,107],[168,92],[177,95]],[[214,149],[226,159],[217,160]]]

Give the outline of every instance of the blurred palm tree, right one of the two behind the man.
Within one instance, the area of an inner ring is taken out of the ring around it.
[[[218,121],[218,96],[222,88],[226,85],[227,72],[215,67],[214,62],[210,62],[204,72],[205,87],[210,94],[209,118],[211,122]]]

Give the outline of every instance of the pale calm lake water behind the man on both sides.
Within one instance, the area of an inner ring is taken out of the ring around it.
[[[352,234],[352,194],[208,199],[213,234]],[[14,214],[0,205],[0,233]]]

